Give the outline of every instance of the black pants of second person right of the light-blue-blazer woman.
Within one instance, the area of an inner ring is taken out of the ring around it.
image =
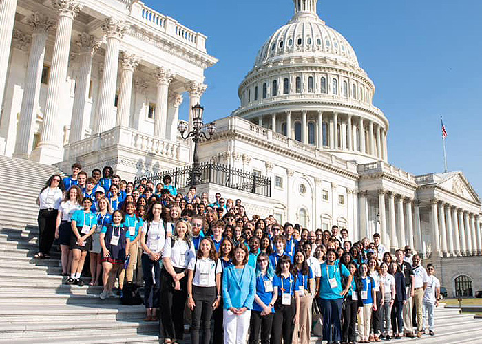
[[[277,301],[275,305],[275,316],[273,316],[273,327],[271,329],[271,344],[291,344],[295,330],[296,303],[291,297],[291,305],[282,305]]]

